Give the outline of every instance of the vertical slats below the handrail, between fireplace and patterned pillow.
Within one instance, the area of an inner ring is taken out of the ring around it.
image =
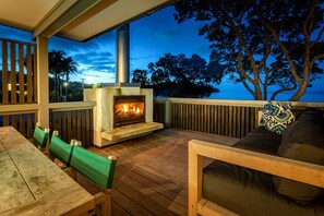
[[[175,128],[243,137],[257,127],[255,107],[172,103]]]

